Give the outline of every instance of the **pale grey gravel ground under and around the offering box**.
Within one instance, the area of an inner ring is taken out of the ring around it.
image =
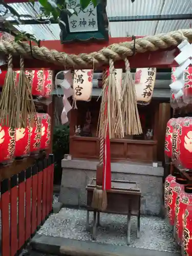
[[[141,217],[140,239],[137,235],[136,218],[132,217],[132,247],[159,251],[179,252],[180,248],[173,239],[173,230],[165,220],[157,217]],[[90,223],[93,216],[90,214]],[[126,216],[101,214],[97,230],[97,241],[113,245],[126,245]],[[53,214],[39,229],[46,236],[92,241],[91,232],[86,231],[86,211],[62,208]]]

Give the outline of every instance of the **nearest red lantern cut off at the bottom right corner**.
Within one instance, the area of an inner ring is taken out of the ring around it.
[[[183,215],[182,254],[192,255],[192,204],[187,205]]]

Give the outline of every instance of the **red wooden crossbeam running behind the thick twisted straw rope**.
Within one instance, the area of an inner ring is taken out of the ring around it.
[[[62,45],[59,40],[46,40],[40,42],[40,47],[44,46],[48,49],[55,49],[58,52],[66,52],[68,54],[80,54],[80,53],[91,53],[97,52],[101,50],[103,47],[108,47],[111,44],[118,44],[123,41],[131,41],[132,38],[127,37],[119,37],[119,38],[110,38],[109,42],[97,41],[97,42],[74,42]],[[156,68],[172,68],[176,67],[177,63],[174,61],[174,58],[178,55],[179,50],[177,48],[170,48],[168,50],[159,50],[155,52],[145,52],[138,53],[135,56],[129,57],[131,68],[148,68],[148,67],[156,67]],[[14,57],[14,68],[19,68],[19,60],[17,57]],[[124,68],[123,61],[115,62],[116,68]],[[2,66],[2,70],[7,67]],[[38,59],[26,59],[25,60],[25,68],[26,69],[63,69],[63,66],[57,66],[52,63],[48,63],[45,61],[41,61]],[[82,67],[83,68],[83,67]],[[98,68],[98,70],[102,70],[104,67]]]

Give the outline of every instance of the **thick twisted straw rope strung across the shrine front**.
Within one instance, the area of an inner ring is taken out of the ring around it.
[[[153,36],[146,36],[137,38],[135,40],[135,53],[144,53],[146,51],[157,51],[159,49],[167,49],[169,47],[178,46],[183,39],[192,41],[192,29],[183,29],[178,31],[168,32],[167,34],[159,34]],[[56,50],[49,50],[46,47],[32,47],[28,43],[17,43],[0,41],[0,53],[22,55],[23,57],[35,57],[47,62],[53,62],[55,65],[66,66],[66,68],[88,68],[102,66],[109,63],[109,58],[120,60],[121,58],[133,55],[134,41],[121,42],[113,44],[98,52],[90,54],[81,53],[79,55],[66,54],[65,52],[58,52]]]

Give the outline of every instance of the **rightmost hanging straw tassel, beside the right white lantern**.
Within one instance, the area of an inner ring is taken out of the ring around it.
[[[125,58],[125,77],[122,83],[122,115],[126,135],[142,134],[142,127],[137,108],[135,83],[130,70],[130,62]]]

